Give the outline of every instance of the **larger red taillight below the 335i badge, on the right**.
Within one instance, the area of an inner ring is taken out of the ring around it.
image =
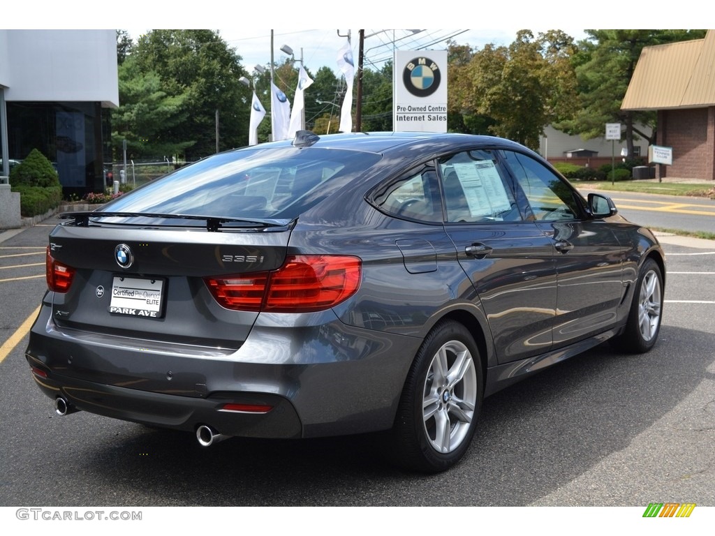
[[[358,257],[298,255],[275,272],[205,279],[216,301],[240,311],[312,312],[330,309],[357,292]]]

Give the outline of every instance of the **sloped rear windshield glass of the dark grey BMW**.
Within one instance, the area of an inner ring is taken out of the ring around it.
[[[312,147],[243,149],[179,169],[102,210],[293,219],[380,158],[375,153]]]

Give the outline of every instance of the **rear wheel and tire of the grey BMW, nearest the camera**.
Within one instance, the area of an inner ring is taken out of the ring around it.
[[[458,322],[440,322],[425,337],[405,380],[392,431],[395,461],[428,473],[455,465],[469,448],[483,394],[473,337]]]

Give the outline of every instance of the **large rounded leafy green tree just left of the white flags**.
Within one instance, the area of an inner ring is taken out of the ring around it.
[[[129,51],[123,64],[129,59],[132,64],[127,71],[120,70],[128,93],[122,99],[120,83],[120,101],[133,109],[120,109],[119,115],[125,121],[133,117],[133,126],[141,128],[133,131],[131,141],[144,144],[142,156],[157,157],[174,150],[171,154],[192,160],[216,152],[217,115],[220,150],[247,144],[250,90],[239,81],[245,71],[240,56],[216,31],[152,30],[139,37]],[[139,94],[149,96],[149,101],[132,99]],[[164,116],[166,121],[147,130],[148,121],[139,119],[142,114]],[[115,149],[119,149],[117,142],[121,143],[124,129],[118,128],[117,133]],[[150,155],[152,151],[156,153]]]

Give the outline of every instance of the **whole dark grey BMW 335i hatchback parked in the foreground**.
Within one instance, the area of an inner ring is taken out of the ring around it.
[[[647,352],[661,324],[654,235],[494,137],[300,131],[64,218],[36,384],[60,415],[204,446],[384,430],[445,470],[484,397],[606,340]]]

